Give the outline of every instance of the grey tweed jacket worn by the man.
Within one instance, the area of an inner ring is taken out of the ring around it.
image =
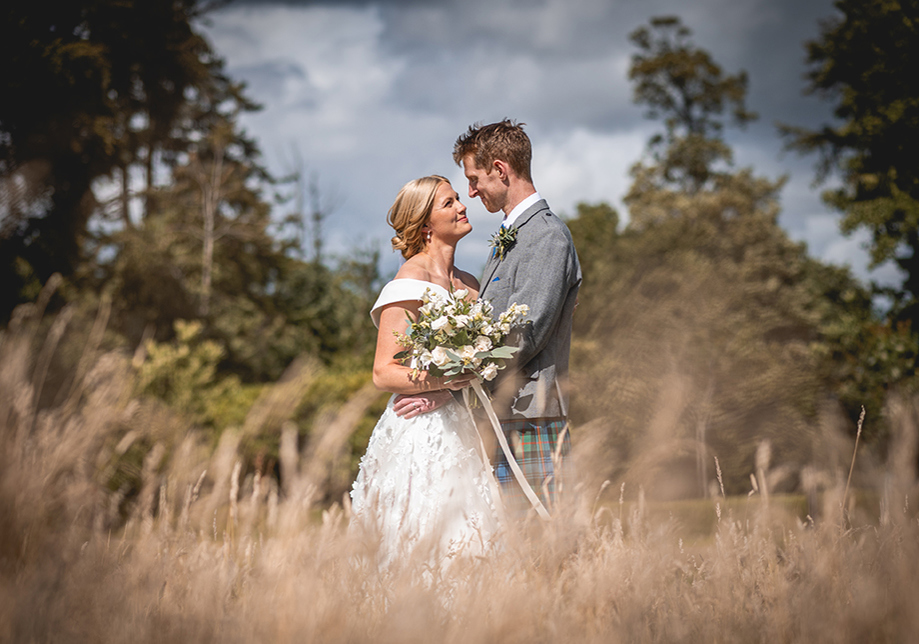
[[[502,420],[566,416],[571,323],[581,266],[568,227],[544,199],[524,211],[514,226],[515,243],[503,259],[492,252],[479,291],[495,314],[512,303],[530,307],[526,325],[509,338],[520,350],[492,385],[495,411]]]

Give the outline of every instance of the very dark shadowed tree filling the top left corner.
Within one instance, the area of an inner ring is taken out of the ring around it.
[[[118,177],[112,216],[130,225],[129,173],[183,147],[178,120],[193,88],[222,64],[194,20],[205,0],[37,0],[0,20],[0,319],[23,288],[82,259],[93,184]],[[164,151],[163,155],[160,152]]]

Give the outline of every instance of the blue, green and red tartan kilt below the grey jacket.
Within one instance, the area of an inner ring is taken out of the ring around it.
[[[551,513],[564,496],[565,479],[570,473],[568,454],[571,451],[571,432],[567,418],[526,418],[502,420],[504,437],[523,471],[524,477]],[[559,445],[559,435],[562,436]],[[532,504],[508,465],[499,445],[495,451],[495,476],[501,484],[502,497],[508,514],[521,518]]]

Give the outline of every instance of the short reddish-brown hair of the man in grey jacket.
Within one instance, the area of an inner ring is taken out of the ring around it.
[[[453,160],[462,165],[463,159],[471,154],[475,164],[487,173],[495,159],[507,161],[521,179],[532,182],[530,161],[533,149],[530,137],[523,131],[525,123],[504,119],[490,125],[470,125],[465,134],[456,139],[453,146]]]

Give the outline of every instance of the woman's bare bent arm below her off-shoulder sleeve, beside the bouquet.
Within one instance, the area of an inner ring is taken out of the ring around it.
[[[411,367],[403,365],[393,357],[405,349],[396,342],[393,331],[405,332],[405,314],[409,313],[412,319],[416,319],[419,306],[420,303],[417,301],[397,302],[384,307],[380,313],[380,330],[377,332],[377,349],[373,358],[373,384],[377,389],[396,394],[458,390],[468,386],[469,381],[475,377],[471,374],[454,376],[449,381],[444,377],[431,376],[427,371],[413,377]]]

